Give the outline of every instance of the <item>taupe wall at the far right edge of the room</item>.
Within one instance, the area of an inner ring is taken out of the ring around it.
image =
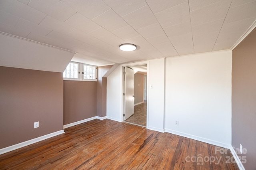
[[[232,146],[246,148],[247,170],[256,165],[256,29],[234,50],[232,59]]]

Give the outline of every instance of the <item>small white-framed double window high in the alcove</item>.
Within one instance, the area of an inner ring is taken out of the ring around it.
[[[63,72],[64,80],[97,81],[97,67],[70,62]]]

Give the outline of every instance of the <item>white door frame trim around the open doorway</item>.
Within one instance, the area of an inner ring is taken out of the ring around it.
[[[121,117],[122,117],[122,122],[124,121],[124,67],[129,67],[129,66],[134,66],[134,65],[147,65],[147,124],[146,124],[146,128],[148,128],[148,103],[149,103],[149,61],[139,61],[139,62],[134,62],[134,63],[126,63],[126,64],[121,64],[122,67],[122,113],[121,113]]]

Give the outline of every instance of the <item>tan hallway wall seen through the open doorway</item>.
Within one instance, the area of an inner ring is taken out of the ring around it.
[[[134,74],[134,95],[135,95],[134,105],[144,101],[143,79],[144,79],[143,74],[140,74],[140,73],[135,73]]]

